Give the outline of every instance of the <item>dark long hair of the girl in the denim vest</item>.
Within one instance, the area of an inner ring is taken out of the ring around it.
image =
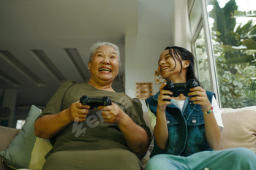
[[[194,55],[192,55],[192,53],[190,53],[189,50],[183,47],[178,47],[178,46],[166,47],[165,50],[169,50],[170,56],[172,56],[173,58],[176,58],[180,63],[181,63],[181,59],[184,61],[189,61],[190,64],[187,68],[186,80],[188,81],[190,79],[195,79],[198,85],[203,88],[203,85],[199,82],[199,80],[197,80],[197,77],[195,77]],[[176,62],[176,60],[174,61]],[[181,70],[182,70],[182,63],[181,63]],[[181,71],[180,71],[180,74],[181,74]]]

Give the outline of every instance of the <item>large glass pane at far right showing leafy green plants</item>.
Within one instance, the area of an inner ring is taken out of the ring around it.
[[[211,0],[208,20],[222,107],[256,105],[255,0]]]

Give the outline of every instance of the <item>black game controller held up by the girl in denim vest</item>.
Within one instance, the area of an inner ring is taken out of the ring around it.
[[[184,83],[173,83],[172,81],[167,81],[167,84],[163,88],[164,90],[170,90],[173,92],[174,97],[178,97],[180,94],[184,94],[184,96],[188,96],[187,93],[190,92],[189,88],[195,88],[198,86],[197,82],[194,79],[189,80]]]

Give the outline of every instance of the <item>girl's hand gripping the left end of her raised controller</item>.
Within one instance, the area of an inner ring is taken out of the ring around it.
[[[166,106],[168,104],[171,104],[170,100],[172,99],[171,96],[169,95],[172,95],[173,92],[171,92],[170,90],[164,90],[162,88],[164,88],[166,85],[166,82],[163,83],[160,87],[159,87],[159,90],[160,90],[160,93],[159,93],[159,96],[158,96],[158,104],[157,104],[157,107],[161,110],[161,111],[164,111]],[[169,94],[169,95],[168,95]],[[167,101],[166,101],[167,100]]]

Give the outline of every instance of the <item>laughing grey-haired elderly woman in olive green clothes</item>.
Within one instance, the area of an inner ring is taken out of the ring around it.
[[[91,47],[89,82],[64,82],[34,123],[35,134],[53,142],[43,169],[141,169],[150,131],[138,99],[111,87],[120,66],[119,50],[109,42]],[[81,96],[108,96],[111,105],[90,109]]]

